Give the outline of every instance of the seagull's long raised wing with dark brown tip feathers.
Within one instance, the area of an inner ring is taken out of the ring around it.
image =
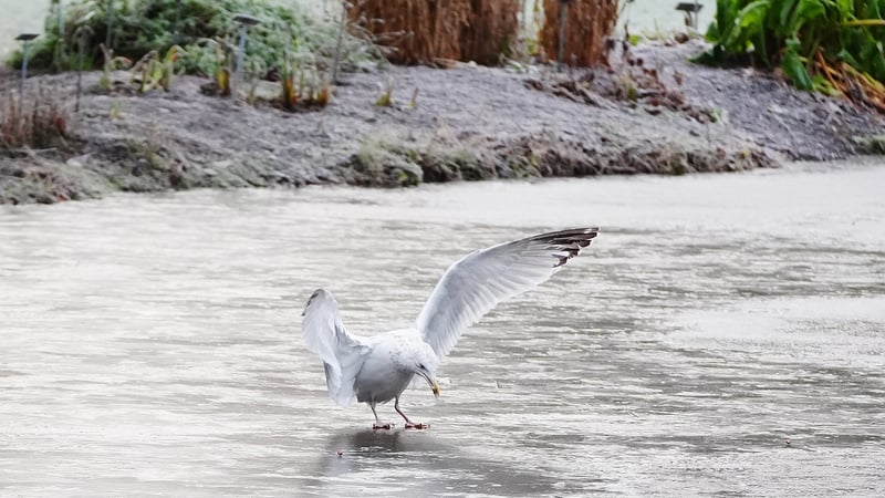
[[[441,359],[465,329],[504,299],[544,282],[590,246],[598,230],[542,234],[468,255],[436,284],[418,315],[418,332]]]

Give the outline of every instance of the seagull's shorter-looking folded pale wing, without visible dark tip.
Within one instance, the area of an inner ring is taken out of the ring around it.
[[[329,395],[342,406],[350,405],[354,378],[371,347],[363,339],[347,333],[332,292],[314,291],[302,315],[304,343],[323,360]]]

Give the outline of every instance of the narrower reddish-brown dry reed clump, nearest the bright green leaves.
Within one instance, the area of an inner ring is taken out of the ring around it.
[[[559,54],[560,0],[544,0],[544,22],[540,39],[546,56]],[[591,66],[605,63],[606,39],[617,22],[617,0],[574,0],[566,12],[563,63]]]

